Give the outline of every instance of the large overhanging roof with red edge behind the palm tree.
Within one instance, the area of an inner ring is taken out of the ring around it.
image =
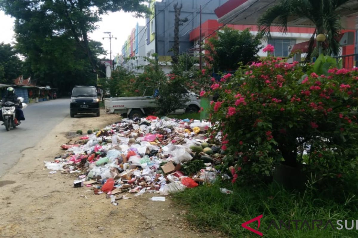
[[[229,0],[215,9],[218,22],[234,25],[255,25],[258,17],[279,0]],[[358,1],[350,0],[337,10],[345,29],[355,29],[355,17],[358,15]],[[313,23],[303,17],[290,16],[288,26],[312,27]]]

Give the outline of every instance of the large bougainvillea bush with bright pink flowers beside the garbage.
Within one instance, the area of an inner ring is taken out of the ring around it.
[[[331,177],[355,166],[358,72],[330,69],[324,76],[311,69],[268,57],[212,84],[220,96],[211,106],[211,138],[219,133],[232,155],[233,182],[271,176],[279,161],[305,162]]]

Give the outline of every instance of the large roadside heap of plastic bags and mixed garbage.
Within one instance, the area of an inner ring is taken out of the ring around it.
[[[45,166],[50,173],[79,173],[74,187],[106,193],[113,204],[124,192],[166,196],[216,180],[214,165],[221,164],[223,151],[208,143],[209,127],[207,121],[189,119],[126,118],[62,145],[66,154]]]

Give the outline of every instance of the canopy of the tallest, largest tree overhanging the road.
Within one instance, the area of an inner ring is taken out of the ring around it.
[[[100,42],[88,34],[108,12],[147,11],[146,0],[2,0],[0,9],[15,18],[17,48],[26,59],[26,69],[39,82],[66,87],[95,83]],[[90,79],[88,82],[88,79]],[[68,88],[67,88],[68,87]]]

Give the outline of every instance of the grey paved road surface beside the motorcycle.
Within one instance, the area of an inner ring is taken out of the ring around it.
[[[0,126],[0,177],[21,158],[21,151],[35,146],[69,116],[69,99],[30,104],[24,109],[24,115],[26,120],[16,129],[8,132],[5,126]]]

